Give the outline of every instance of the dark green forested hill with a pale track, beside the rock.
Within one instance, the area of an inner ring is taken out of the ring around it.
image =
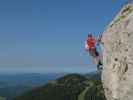
[[[13,100],[105,100],[100,75],[69,74],[25,92]]]

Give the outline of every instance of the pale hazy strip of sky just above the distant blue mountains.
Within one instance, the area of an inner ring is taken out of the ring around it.
[[[59,70],[60,69],[60,70]],[[73,70],[72,70],[73,69]],[[96,69],[91,68],[88,70],[88,67],[86,68],[81,68],[81,67],[71,67],[71,68],[54,68],[54,69],[49,69],[49,68],[1,68],[0,69],[0,74],[23,74],[23,73],[40,73],[40,74],[45,74],[45,73],[90,73],[90,72],[95,72]]]

